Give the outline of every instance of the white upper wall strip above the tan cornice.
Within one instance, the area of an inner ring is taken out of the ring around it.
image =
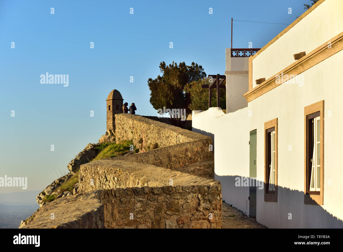
[[[294,14],[293,14],[294,15]],[[295,62],[293,54],[309,53],[343,31],[343,1],[326,0],[262,51],[252,64],[252,87]]]

